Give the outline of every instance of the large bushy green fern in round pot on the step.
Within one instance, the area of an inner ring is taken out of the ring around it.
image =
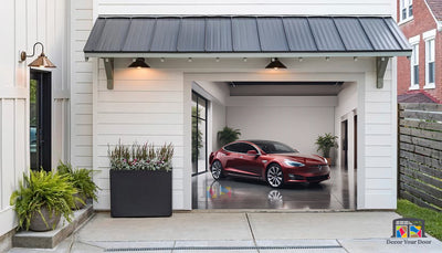
[[[61,215],[71,222],[76,189],[64,175],[30,171],[23,175],[10,202],[19,217],[19,229],[49,231],[55,229]]]

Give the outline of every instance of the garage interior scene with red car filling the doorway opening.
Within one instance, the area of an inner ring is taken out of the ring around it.
[[[349,170],[348,150],[330,169],[324,158],[312,154],[318,154],[315,143],[319,135],[335,135],[338,123],[347,128],[348,120],[355,125],[356,102],[356,85],[343,82],[194,82],[192,207],[355,209],[356,170],[354,166]],[[343,106],[350,112],[343,114]],[[240,139],[249,141],[220,149],[218,131],[224,126],[238,129]],[[339,136],[339,146],[348,147],[349,138],[356,141],[354,131]],[[208,150],[214,157],[207,156]],[[292,161],[299,164],[286,165]],[[224,177],[212,177],[217,162]],[[273,165],[280,167],[281,179],[286,178],[283,186],[266,175]]]

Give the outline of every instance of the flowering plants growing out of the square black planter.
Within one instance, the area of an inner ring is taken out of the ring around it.
[[[114,170],[166,170],[172,169],[171,159],[173,146],[171,144],[155,148],[152,144],[145,143],[125,146],[120,141],[107,150],[110,169]]]

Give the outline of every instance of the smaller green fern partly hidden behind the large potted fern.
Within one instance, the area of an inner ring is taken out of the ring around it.
[[[87,199],[97,200],[98,187],[92,179],[93,170],[81,168],[73,169],[71,164],[59,162],[56,167],[59,173],[67,175],[69,181],[78,191],[74,196],[77,197],[75,200],[74,209],[82,209],[86,204]]]

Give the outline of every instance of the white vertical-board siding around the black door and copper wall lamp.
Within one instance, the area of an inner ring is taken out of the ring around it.
[[[0,236],[17,225],[15,214],[9,205],[12,191],[23,172],[29,157],[29,67],[33,59],[19,62],[19,52],[32,54],[40,41],[52,70],[52,158],[53,165],[66,158],[69,141],[69,70],[66,44],[66,1],[15,0],[2,1],[0,34]],[[36,48],[36,55],[41,48]]]

